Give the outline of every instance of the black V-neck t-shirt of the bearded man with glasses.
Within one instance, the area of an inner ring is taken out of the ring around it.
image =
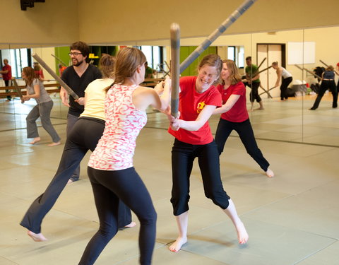
[[[95,79],[101,78],[102,74],[99,69],[93,64],[88,65],[85,73],[81,77],[78,76],[78,73],[74,70],[73,66],[69,66],[62,73],[61,79],[64,81],[71,90],[78,95],[79,98],[85,96],[85,89],[88,84]],[[79,117],[81,113],[83,113],[83,105],[79,105],[74,101],[74,98],[69,96],[69,114]]]

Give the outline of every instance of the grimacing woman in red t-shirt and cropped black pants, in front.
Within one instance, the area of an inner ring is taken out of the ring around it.
[[[196,157],[206,197],[220,206],[231,218],[240,244],[245,244],[249,238],[230,196],[222,187],[218,147],[208,124],[215,107],[220,107],[222,103],[220,93],[213,86],[220,76],[221,69],[220,57],[217,54],[209,54],[199,64],[198,76],[180,78],[180,117],[172,117],[169,128],[169,134],[175,137],[172,148],[171,202],[179,229],[179,237],[169,247],[172,252],[178,252],[187,242],[189,177]]]

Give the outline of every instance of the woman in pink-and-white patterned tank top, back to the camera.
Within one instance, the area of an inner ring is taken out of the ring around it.
[[[145,55],[136,48],[125,47],[117,54],[115,80],[107,88],[105,99],[105,131],[88,163],[100,228],[79,264],[94,264],[117,233],[119,199],[140,220],[140,264],[151,264],[157,214],[145,184],[133,167],[133,154],[136,137],[147,122],[146,108],[151,105],[161,111],[167,109],[170,81],[167,79],[154,89],[139,86],[145,76],[145,61]]]

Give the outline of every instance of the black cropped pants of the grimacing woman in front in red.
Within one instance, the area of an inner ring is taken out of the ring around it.
[[[192,145],[175,139],[172,148],[171,198],[174,216],[189,210],[189,177],[195,158],[198,158],[205,196],[224,210],[228,207],[230,196],[222,187],[219,154],[215,142]]]

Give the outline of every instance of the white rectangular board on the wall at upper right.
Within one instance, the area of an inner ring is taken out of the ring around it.
[[[316,42],[287,42],[287,64],[314,64],[315,61]]]

